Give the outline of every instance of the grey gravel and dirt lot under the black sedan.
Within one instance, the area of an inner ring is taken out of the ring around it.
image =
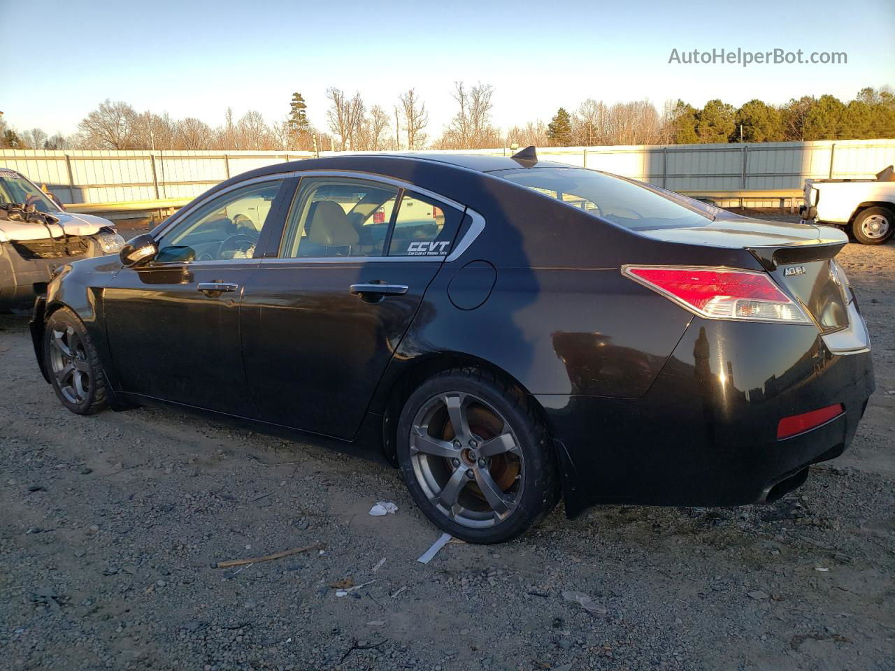
[[[26,319],[0,317],[0,667],[895,669],[895,243],[840,259],[877,391],[804,488],[574,522],[560,506],[430,565],[439,531],[396,471],[175,412],[77,417]],[[382,499],[398,512],[368,515]]]

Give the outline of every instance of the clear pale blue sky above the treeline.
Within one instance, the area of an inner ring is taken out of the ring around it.
[[[455,81],[494,86],[502,129],[585,98],[738,106],[895,85],[895,40],[881,38],[895,29],[892,0],[0,0],[0,25],[36,30],[21,49],[7,35],[0,111],[49,134],[75,132],[105,98],[216,126],[227,106],[282,121],[297,90],[326,130],[328,87],[389,111],[415,87],[433,136],[455,112]],[[846,52],[848,63],[669,63],[673,49],[721,48]]]

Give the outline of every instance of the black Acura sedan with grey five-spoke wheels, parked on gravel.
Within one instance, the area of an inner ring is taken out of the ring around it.
[[[560,496],[763,502],[841,454],[874,390],[846,242],[533,148],[328,157],[61,268],[31,326],[72,412],[310,434],[494,543]]]

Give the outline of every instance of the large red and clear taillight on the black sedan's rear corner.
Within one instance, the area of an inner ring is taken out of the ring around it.
[[[709,319],[808,323],[771,277],[753,270],[626,266],[622,272]]]

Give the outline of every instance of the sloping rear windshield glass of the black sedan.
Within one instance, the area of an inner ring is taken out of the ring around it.
[[[704,226],[716,208],[624,177],[582,168],[520,168],[491,174],[632,229]]]

